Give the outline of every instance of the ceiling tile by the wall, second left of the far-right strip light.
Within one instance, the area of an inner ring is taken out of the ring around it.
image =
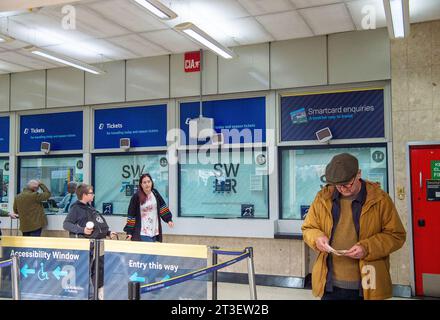
[[[315,35],[352,31],[355,28],[343,3],[300,9],[299,12]]]

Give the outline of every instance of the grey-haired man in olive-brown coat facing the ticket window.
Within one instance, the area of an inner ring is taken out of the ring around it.
[[[41,188],[43,192],[37,192]],[[20,230],[23,236],[39,237],[43,227],[47,225],[47,217],[44,214],[43,201],[50,198],[49,189],[40,181],[30,180],[14,199],[14,213],[12,218],[20,219]]]

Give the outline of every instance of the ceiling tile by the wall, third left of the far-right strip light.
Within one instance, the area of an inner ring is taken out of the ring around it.
[[[296,11],[256,17],[275,40],[287,40],[313,36],[312,30]]]

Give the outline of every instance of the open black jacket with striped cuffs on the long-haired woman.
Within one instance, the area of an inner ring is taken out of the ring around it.
[[[163,200],[159,191],[153,189],[152,192],[157,201],[157,217],[162,219],[166,223],[172,221],[173,215],[171,214],[167,204]],[[159,242],[162,242],[162,225],[160,223],[160,219],[159,219],[159,234],[157,235],[157,240]],[[141,227],[142,227],[141,204],[139,200],[139,194],[135,193],[130,199],[130,204],[128,206],[128,212],[127,212],[127,224],[124,227],[124,231],[132,236],[131,240],[141,241]]]

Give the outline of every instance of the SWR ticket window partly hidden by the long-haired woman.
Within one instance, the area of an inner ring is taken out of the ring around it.
[[[93,158],[95,207],[103,214],[126,216],[139,178],[149,173],[154,188],[168,203],[168,160],[166,152],[148,154],[95,155]]]

